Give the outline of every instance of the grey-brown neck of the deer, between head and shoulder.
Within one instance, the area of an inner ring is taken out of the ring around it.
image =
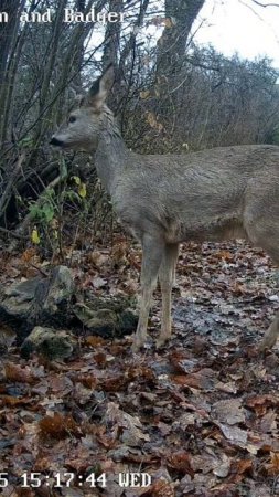
[[[129,155],[130,151],[125,145],[114,115],[106,108],[96,150],[96,169],[103,186],[110,195],[122,176]]]

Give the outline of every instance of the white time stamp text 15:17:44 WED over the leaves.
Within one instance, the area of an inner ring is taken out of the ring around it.
[[[23,473],[18,482],[21,488],[40,488],[42,486],[52,488],[63,487],[86,487],[86,488],[106,488],[107,474],[90,473],[87,476],[76,475],[75,473],[58,473],[52,475],[44,473]],[[148,473],[119,473],[116,475],[119,487],[122,488],[140,488],[151,485],[151,476]],[[8,487],[9,474],[0,473],[0,490]]]

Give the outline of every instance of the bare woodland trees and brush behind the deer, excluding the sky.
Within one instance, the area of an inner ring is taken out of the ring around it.
[[[226,57],[195,44],[191,29],[204,0],[1,0],[0,226],[22,236],[30,205],[76,173],[95,192],[92,158],[61,161],[47,144],[74,95],[108,63],[116,67],[110,104],[126,141],[146,154],[182,152],[236,144],[278,142],[277,71],[264,57]],[[121,23],[65,23],[64,9],[125,13]],[[51,23],[21,22],[51,9]],[[153,27],[153,35],[146,28]],[[97,184],[97,188],[98,184]],[[96,193],[96,192],[95,192]],[[99,198],[101,195],[97,195]],[[96,194],[93,195],[96,199]],[[88,215],[107,222],[101,199]],[[6,232],[6,233],[8,233]]]

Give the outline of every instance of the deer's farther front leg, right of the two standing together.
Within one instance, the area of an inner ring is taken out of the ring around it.
[[[159,281],[162,293],[162,320],[157,347],[163,346],[165,341],[171,338],[171,292],[175,277],[178,255],[179,244],[165,245],[159,271]]]

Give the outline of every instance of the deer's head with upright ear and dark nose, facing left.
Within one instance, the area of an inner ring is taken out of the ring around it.
[[[62,149],[95,151],[101,128],[107,95],[114,84],[114,67],[109,65],[103,76],[94,82],[89,92],[73,109],[67,123],[53,135],[51,145]]]

